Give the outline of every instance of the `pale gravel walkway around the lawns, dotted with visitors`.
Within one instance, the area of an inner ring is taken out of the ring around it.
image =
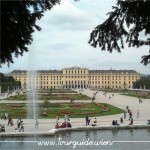
[[[84,91],[79,91],[79,92],[88,95],[90,97],[93,97],[93,94],[95,93],[95,91],[91,91],[89,89],[86,89]],[[150,119],[150,109],[149,109],[150,99],[143,99],[143,103],[139,104],[138,99],[135,97],[124,96],[118,93],[114,93],[114,96],[112,96],[112,94],[113,93],[107,93],[105,97],[104,92],[98,92],[95,101],[99,103],[108,103],[122,109],[126,109],[126,106],[129,106],[129,108],[133,112],[134,124],[145,125],[146,121]],[[111,96],[111,99],[109,99],[109,96]],[[5,100],[0,101],[0,103],[4,103],[4,102],[8,103],[8,101]],[[51,102],[58,102],[58,101],[51,101]],[[65,101],[61,100],[61,102],[65,102]],[[78,102],[81,101],[78,100]],[[82,102],[86,102],[86,101],[82,101]],[[91,101],[88,100],[87,102],[91,102]],[[136,118],[137,110],[139,110],[140,112],[139,118]],[[123,114],[97,117],[98,126],[111,125],[112,120],[118,120],[119,122],[121,117],[123,117]],[[7,126],[7,120],[0,120],[0,123],[5,125],[6,132],[15,132],[15,128],[17,126],[16,125],[17,120],[14,119],[13,121],[14,121],[14,126]],[[33,119],[23,119],[23,121],[24,121],[25,132],[35,131],[35,125],[34,125],[35,121]],[[85,126],[85,118],[71,118],[70,121],[73,127]],[[93,123],[93,121],[94,121],[94,117],[91,118],[91,124]],[[60,119],[59,122],[63,122],[63,119]],[[39,119],[39,128],[37,132],[47,132],[50,129],[54,129],[55,123],[56,123],[56,119]],[[129,124],[129,120],[127,115],[127,119],[124,120],[124,123],[122,125],[124,126],[128,124]]]

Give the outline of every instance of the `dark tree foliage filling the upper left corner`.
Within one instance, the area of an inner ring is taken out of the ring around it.
[[[43,17],[60,0],[16,0],[0,1],[1,4],[1,58],[0,65],[13,63],[16,57],[28,51],[33,41],[32,33],[41,28],[36,20]]]

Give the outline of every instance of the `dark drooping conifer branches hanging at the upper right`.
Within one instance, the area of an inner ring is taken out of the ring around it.
[[[129,47],[150,46],[149,37],[140,39],[140,34],[150,34],[150,1],[118,0],[116,5],[108,19],[91,32],[89,44],[109,52],[121,52],[125,42]],[[142,56],[141,63],[150,63],[150,55]]]

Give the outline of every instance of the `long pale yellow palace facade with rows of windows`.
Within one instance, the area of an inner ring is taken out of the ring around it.
[[[92,89],[126,89],[132,88],[133,82],[140,78],[135,70],[89,70],[87,68],[71,67],[62,70],[39,70],[31,74],[25,70],[14,70],[11,75],[21,82],[21,88],[92,88]]]

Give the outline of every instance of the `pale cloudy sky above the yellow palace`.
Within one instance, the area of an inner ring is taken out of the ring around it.
[[[8,68],[3,65],[1,72],[15,69],[49,70],[66,67],[86,67],[88,69],[133,69],[149,74],[150,65],[140,63],[141,56],[148,54],[148,47],[128,48],[121,53],[101,51],[88,44],[94,27],[101,24],[115,6],[115,0],[62,0],[44,17],[37,21],[42,31],[34,32],[29,52],[14,58]]]

